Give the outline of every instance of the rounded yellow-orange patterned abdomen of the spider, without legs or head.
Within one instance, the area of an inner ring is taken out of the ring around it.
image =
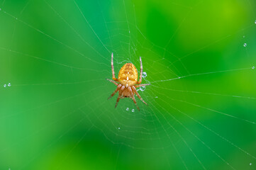
[[[138,80],[138,72],[132,63],[126,63],[121,67],[118,74],[118,81],[123,86],[133,86]]]

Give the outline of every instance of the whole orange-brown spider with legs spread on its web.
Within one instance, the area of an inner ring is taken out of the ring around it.
[[[112,69],[112,79],[107,79],[108,81],[111,81],[113,84],[117,86],[116,90],[113,91],[113,94],[111,94],[111,97],[113,97],[116,92],[119,92],[118,98],[116,100],[116,106],[120,100],[120,98],[132,98],[133,102],[135,103],[136,107],[140,111],[140,108],[137,105],[137,102],[134,98],[135,94],[140,98],[141,101],[143,101],[143,98],[140,97],[140,94],[138,94],[136,88],[140,86],[148,86],[150,84],[141,84],[142,81],[142,74],[143,74],[143,63],[141,62],[141,57],[140,57],[140,80],[138,80],[138,72],[136,67],[132,63],[126,63],[121,67],[119,74],[118,74],[118,79],[115,77],[115,72],[113,70],[113,53],[111,55],[111,69]],[[118,84],[118,83],[119,84]],[[136,85],[138,84],[138,85]],[[108,98],[108,99],[109,99]],[[143,101],[145,103],[145,101]],[[147,103],[145,103],[148,105]],[[115,106],[115,108],[116,108]]]

